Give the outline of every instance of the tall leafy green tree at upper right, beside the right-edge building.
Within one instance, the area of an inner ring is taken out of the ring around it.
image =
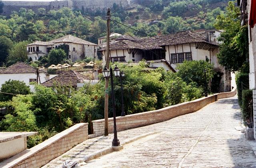
[[[218,61],[230,71],[241,70],[243,66],[248,66],[248,28],[247,26],[240,26],[239,8],[235,6],[234,2],[228,2],[228,7],[224,14],[217,16],[216,24],[214,25],[219,30],[224,30],[220,34],[219,40],[220,53]],[[245,73],[248,73],[244,69]]]

